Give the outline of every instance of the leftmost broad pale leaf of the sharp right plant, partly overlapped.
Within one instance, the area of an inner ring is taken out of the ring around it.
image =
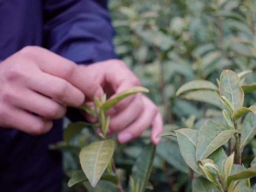
[[[196,161],[198,131],[189,128],[176,130],[180,153],[187,165],[195,172],[202,174]]]

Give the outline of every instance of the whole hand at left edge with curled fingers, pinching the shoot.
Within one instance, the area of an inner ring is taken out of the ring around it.
[[[78,107],[101,94],[74,62],[28,46],[0,63],[0,126],[43,134],[65,115],[65,104]]]

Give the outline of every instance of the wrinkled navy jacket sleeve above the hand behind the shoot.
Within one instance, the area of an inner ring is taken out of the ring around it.
[[[107,0],[45,0],[44,47],[78,64],[116,58]]]

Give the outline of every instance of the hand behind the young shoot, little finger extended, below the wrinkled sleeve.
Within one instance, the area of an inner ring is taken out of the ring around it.
[[[98,62],[90,66],[81,66],[81,68],[90,73],[103,87],[107,97],[140,85],[138,78],[120,60]],[[151,141],[154,144],[159,142],[160,139],[155,139],[155,136],[163,130],[162,116],[155,104],[143,94],[135,94],[123,99],[110,109],[108,114],[112,116],[109,133],[120,131],[119,142],[124,143],[139,136],[150,126]],[[90,122],[95,121],[95,118],[88,114],[86,118]]]

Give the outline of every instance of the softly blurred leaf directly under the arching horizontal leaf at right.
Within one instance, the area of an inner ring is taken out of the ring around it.
[[[216,91],[196,90],[196,91],[190,91],[189,93],[182,95],[181,98],[192,100],[192,101],[209,103],[211,105],[214,105],[222,109],[222,105],[218,99],[218,96],[219,95]]]

